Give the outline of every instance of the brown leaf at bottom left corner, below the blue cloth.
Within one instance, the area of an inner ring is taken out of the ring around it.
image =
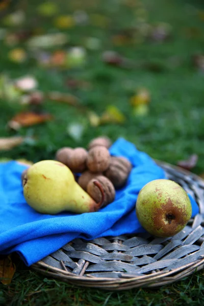
[[[15,273],[15,265],[11,261],[11,257],[3,257],[0,259],[0,281],[4,285],[11,284],[13,275]]]

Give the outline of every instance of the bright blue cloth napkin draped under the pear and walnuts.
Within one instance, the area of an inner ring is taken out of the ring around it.
[[[110,152],[129,159],[133,169],[126,186],[116,192],[114,202],[95,213],[37,213],[23,197],[20,176],[26,166],[15,161],[0,164],[0,254],[16,251],[30,266],[77,237],[91,240],[145,232],[135,213],[138,193],[148,182],[164,179],[165,173],[147,154],[122,138]],[[198,206],[189,197],[194,216]]]

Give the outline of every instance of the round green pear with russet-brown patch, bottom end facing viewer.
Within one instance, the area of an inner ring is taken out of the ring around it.
[[[171,180],[154,180],[139,192],[136,215],[147,232],[172,237],[183,230],[191,218],[192,207],[186,191]]]

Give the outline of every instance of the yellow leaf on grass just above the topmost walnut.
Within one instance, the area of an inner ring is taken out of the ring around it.
[[[101,116],[100,123],[123,123],[125,116],[114,105],[109,105],[106,112]]]

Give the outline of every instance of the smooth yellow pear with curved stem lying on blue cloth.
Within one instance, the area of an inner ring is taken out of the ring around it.
[[[98,182],[102,200],[96,203],[74,180],[64,164],[43,160],[33,164],[24,175],[23,194],[27,203],[42,214],[62,211],[88,213],[97,211],[104,201],[104,191]]]

